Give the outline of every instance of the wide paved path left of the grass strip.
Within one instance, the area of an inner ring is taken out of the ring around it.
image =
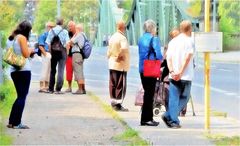
[[[22,118],[30,129],[9,129],[14,145],[127,145],[125,128],[87,95],[38,93],[31,83]],[[5,122],[7,123],[7,121]]]

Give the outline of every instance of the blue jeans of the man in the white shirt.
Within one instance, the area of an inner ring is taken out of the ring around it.
[[[164,116],[170,123],[180,124],[178,115],[188,103],[192,82],[185,80],[174,81],[172,79],[169,81],[168,111],[164,113]]]

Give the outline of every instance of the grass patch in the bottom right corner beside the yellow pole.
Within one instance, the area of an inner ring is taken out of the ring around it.
[[[239,146],[240,136],[207,135],[217,146]]]

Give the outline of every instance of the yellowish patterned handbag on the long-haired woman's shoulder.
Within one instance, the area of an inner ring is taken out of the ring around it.
[[[13,41],[14,44],[15,40]],[[8,48],[6,53],[3,55],[3,60],[17,69],[21,69],[26,64],[26,58],[22,55],[17,55],[14,52],[13,45]]]

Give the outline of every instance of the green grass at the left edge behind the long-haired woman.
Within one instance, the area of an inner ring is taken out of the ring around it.
[[[7,118],[12,108],[12,104],[16,98],[15,88],[12,82],[6,81],[0,86],[0,145],[10,145],[13,138],[5,133],[6,123],[4,119]]]

